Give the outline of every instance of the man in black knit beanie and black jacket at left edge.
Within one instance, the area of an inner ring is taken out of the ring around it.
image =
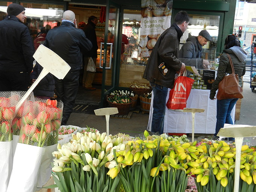
[[[27,91],[34,46],[25,18],[25,8],[12,3],[0,21],[0,91]]]

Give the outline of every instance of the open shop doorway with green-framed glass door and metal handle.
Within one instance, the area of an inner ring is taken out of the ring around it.
[[[117,3],[109,0],[107,5],[85,5],[69,3],[69,10],[76,15],[77,23],[87,23],[88,17],[94,15],[98,18],[96,36],[98,41],[98,58],[96,62],[96,74],[93,80],[94,91],[79,87],[76,104],[92,104],[105,107],[106,96],[119,87],[119,68],[122,46],[123,9]],[[105,9],[105,18],[102,18],[102,10]],[[126,6],[126,10],[129,8]],[[82,72],[81,72],[82,77]],[[81,78],[82,79],[82,78]]]

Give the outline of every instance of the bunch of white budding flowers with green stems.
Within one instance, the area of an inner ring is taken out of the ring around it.
[[[53,175],[56,185],[52,187],[58,187],[61,192],[116,191],[120,186],[118,172],[108,170],[117,168],[113,160],[115,151],[124,149],[121,137],[111,139],[99,131],[72,134],[69,143],[58,144],[58,151],[53,152],[55,159],[52,170],[57,177]]]

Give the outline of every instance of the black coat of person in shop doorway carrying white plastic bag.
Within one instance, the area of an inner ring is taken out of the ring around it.
[[[84,56],[97,58],[97,50],[98,50],[98,43],[97,43],[97,37],[96,37],[96,31],[95,31],[95,24],[93,22],[88,22],[83,30],[85,33],[85,36],[88,38],[88,40],[91,41],[91,44],[93,45],[92,49],[89,52],[86,52]]]

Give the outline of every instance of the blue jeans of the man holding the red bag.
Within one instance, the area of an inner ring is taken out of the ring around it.
[[[163,125],[165,120],[165,108],[166,108],[166,97],[168,93],[168,88],[161,85],[150,82],[152,91],[154,93],[153,100],[153,114],[151,131],[159,134],[163,133]]]

